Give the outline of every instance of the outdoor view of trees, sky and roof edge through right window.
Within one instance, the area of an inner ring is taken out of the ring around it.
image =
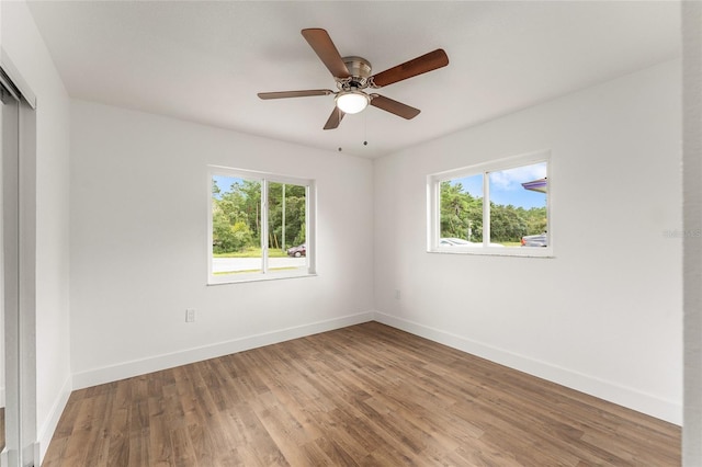
[[[489,218],[484,218],[486,192]],[[483,243],[484,236],[489,235],[490,246],[521,247],[524,237],[547,230],[546,192],[546,162],[442,181],[440,244]],[[546,236],[539,240],[543,244],[537,246],[546,246]]]

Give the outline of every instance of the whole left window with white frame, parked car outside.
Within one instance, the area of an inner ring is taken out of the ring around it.
[[[211,167],[208,283],[314,274],[312,180]]]

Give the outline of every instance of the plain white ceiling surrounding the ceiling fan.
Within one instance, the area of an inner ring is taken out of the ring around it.
[[[370,158],[680,55],[675,1],[29,4],[72,98]],[[373,72],[440,47],[450,65],[377,91],[416,118],[369,107],[325,132],[333,96],[256,95],[336,89],[305,27]]]

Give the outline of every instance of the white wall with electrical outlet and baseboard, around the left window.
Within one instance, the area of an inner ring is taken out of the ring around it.
[[[207,164],[316,179],[317,276],[205,285]],[[370,160],[72,101],[70,170],[76,387],[372,319]]]

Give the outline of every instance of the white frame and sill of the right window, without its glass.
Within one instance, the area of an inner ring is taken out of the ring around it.
[[[535,163],[546,163],[546,178],[548,191],[546,194],[546,235],[547,247],[490,247],[490,203],[489,203],[489,174],[502,170],[516,169]],[[526,257],[526,258],[553,258],[553,166],[550,150],[539,150],[513,157],[507,157],[494,161],[485,161],[458,169],[446,170],[427,175],[427,252],[428,253],[454,253],[498,257]],[[479,247],[441,246],[441,183],[450,180],[483,175],[483,243]]]

